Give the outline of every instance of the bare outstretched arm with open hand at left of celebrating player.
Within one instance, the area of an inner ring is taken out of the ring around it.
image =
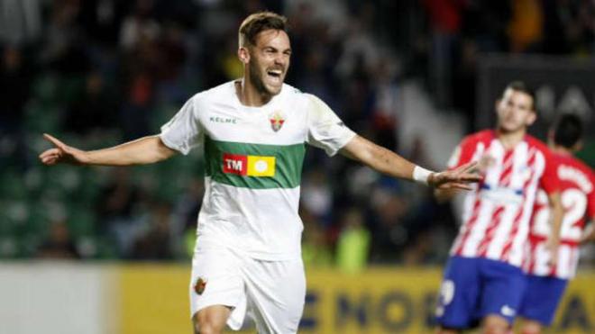
[[[43,134],[43,137],[54,145],[54,148],[46,149],[39,156],[41,162],[48,166],[59,163],[103,166],[144,165],[165,160],[176,153],[175,150],[165,146],[158,135],[143,137],[112,148],[91,151],[73,148],[47,133]]]

